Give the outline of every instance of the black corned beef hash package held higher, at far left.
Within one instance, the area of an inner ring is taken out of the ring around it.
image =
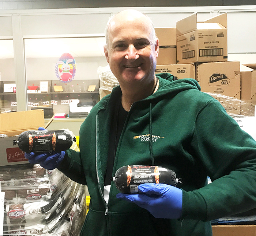
[[[29,130],[19,135],[18,143],[23,152],[61,152],[69,149],[76,138],[66,130]]]

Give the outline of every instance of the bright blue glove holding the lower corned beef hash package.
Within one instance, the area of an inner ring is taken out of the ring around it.
[[[144,194],[118,193],[117,198],[133,202],[148,210],[155,218],[180,219],[182,190],[167,184],[140,184]]]

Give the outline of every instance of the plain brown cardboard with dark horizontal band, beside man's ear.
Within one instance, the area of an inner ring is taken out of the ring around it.
[[[176,28],[155,28],[159,39],[157,65],[176,64]]]

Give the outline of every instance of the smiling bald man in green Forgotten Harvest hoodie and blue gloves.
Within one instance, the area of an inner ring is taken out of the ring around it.
[[[195,80],[156,76],[158,49],[147,16],[112,17],[104,51],[120,86],[82,124],[80,152],[26,153],[30,163],[88,186],[81,235],[209,236],[210,220],[256,207],[256,142]],[[125,165],[163,166],[183,183],[118,193],[110,178]]]

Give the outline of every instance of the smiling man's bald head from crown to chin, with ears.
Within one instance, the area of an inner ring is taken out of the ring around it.
[[[123,11],[110,22],[108,32],[105,56],[120,86],[152,82],[159,45],[148,19],[137,11]]]

